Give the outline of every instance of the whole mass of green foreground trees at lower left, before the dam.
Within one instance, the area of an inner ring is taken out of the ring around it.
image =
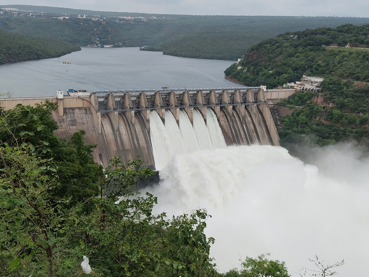
[[[122,164],[119,158],[106,169],[95,167],[90,147],[81,144],[83,133],[70,143],[55,140],[54,127],[45,123],[54,125],[41,119],[48,109],[1,110],[1,277],[82,276],[84,255],[92,276],[216,273],[209,257],[214,239],[203,232],[206,211],[172,219],[153,215],[156,197],[131,190],[153,172],[140,160]],[[62,156],[69,156],[63,164]],[[68,165],[79,169],[70,175]],[[83,191],[89,193],[79,195]]]

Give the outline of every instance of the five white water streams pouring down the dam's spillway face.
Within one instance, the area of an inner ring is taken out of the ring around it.
[[[162,170],[178,154],[226,147],[215,114],[209,110],[208,126],[198,110],[193,110],[193,126],[186,112],[180,110],[179,127],[169,110],[165,111],[165,125],[158,113],[150,112],[150,136],[156,170]]]

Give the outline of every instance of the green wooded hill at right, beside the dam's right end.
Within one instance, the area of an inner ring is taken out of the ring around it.
[[[344,48],[348,43],[369,47],[369,25],[278,35],[253,45],[239,65],[233,64],[225,74],[268,88],[297,81],[303,74],[324,77],[320,105],[313,101],[318,93],[308,91],[281,103],[293,112],[280,117],[280,144],[292,153],[296,144],[326,145],[348,139],[369,147],[369,48]],[[342,48],[323,46],[330,44]]]

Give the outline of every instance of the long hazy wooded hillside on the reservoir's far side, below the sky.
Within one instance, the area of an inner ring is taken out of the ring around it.
[[[251,45],[286,31],[369,23],[369,18],[348,17],[191,16],[27,5],[7,7],[33,10],[37,14],[19,11],[0,15],[0,29],[4,31],[64,40],[79,46],[146,46],[142,49],[203,59],[237,60]],[[56,18],[65,14],[69,18]],[[87,18],[78,17],[85,14]]]

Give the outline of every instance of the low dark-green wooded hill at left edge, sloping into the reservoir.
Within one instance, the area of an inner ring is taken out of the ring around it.
[[[50,38],[36,38],[0,30],[0,65],[30,59],[55,58],[79,51],[79,46]]]

